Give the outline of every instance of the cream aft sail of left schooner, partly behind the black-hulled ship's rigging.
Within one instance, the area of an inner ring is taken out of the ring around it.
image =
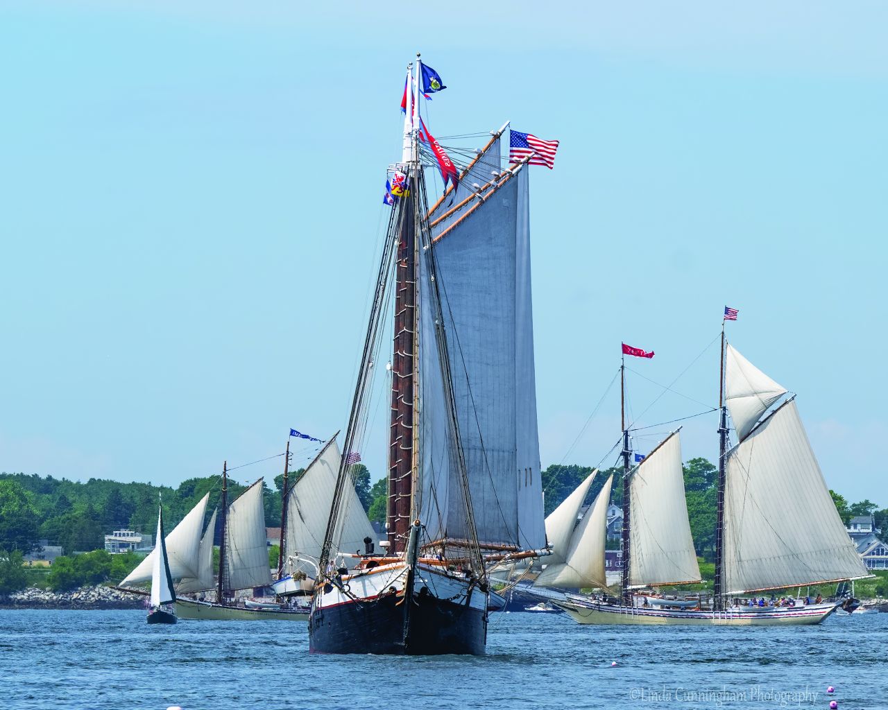
[[[321,449],[321,454],[308,465],[290,489],[287,496],[287,530],[284,533],[288,556],[299,554],[320,559],[341,458],[339,446],[333,439]],[[377,533],[373,532],[353,485],[345,488],[336,530],[333,540],[337,542],[340,552],[360,550],[363,553],[364,538],[377,540]]]

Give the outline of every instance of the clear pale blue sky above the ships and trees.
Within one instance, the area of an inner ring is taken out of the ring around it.
[[[716,406],[728,304],[828,485],[888,506],[888,5],[329,5],[0,7],[0,470],[178,485],[345,429],[422,51],[435,135],[560,141],[531,175],[543,467],[614,463],[622,341],[656,352],[639,450]]]

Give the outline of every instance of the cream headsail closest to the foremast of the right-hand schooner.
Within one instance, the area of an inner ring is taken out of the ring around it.
[[[594,476],[594,474],[592,474]],[[591,476],[587,479],[591,479]],[[607,503],[610,501],[614,477],[607,479],[571,536],[567,560],[549,564],[534,584],[538,587],[580,588],[607,587],[605,575],[605,540],[607,536]],[[551,516],[550,516],[551,517]]]

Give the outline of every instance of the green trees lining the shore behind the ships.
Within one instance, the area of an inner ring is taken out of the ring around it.
[[[557,508],[591,472],[591,467],[578,464],[552,464],[544,469],[545,514],[548,516]],[[290,483],[302,473],[303,469],[292,471]],[[586,496],[587,504],[595,499],[611,474],[614,474],[612,500],[622,499],[622,469],[613,468],[601,471],[594,478]],[[703,560],[711,561],[715,551],[718,469],[704,458],[695,458],[685,463],[684,477],[694,547]],[[363,464],[354,467],[353,479],[370,520],[385,523],[386,479],[371,485],[369,469]],[[247,485],[249,482],[241,484],[229,478],[228,500],[234,500]],[[273,485],[271,488],[264,484],[268,527],[281,524],[282,474],[274,477]],[[163,495],[164,521],[170,530],[206,493],[210,493],[210,509],[215,508],[220,491],[218,476],[188,478],[172,488],[99,478],[81,483],[52,476],[0,473],[0,594],[16,591],[27,583],[22,572],[23,555],[39,548],[40,540],[59,545],[64,553],[46,575],[51,588],[69,589],[123,579],[138,563],[139,556],[108,555],[104,550],[105,534],[120,529],[154,533],[158,493]],[[877,528],[888,526],[888,509],[878,509],[868,500],[849,503],[843,496],[830,493],[845,523],[853,516],[873,515]]]

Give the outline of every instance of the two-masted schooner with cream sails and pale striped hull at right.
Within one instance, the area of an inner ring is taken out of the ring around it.
[[[817,624],[844,600],[819,602],[802,588],[868,577],[829,494],[797,412],[795,395],[725,340],[719,375],[716,574],[711,603],[650,588],[700,580],[687,520],[678,432],[630,468],[623,419],[622,596],[556,602],[583,624]],[[625,365],[621,367],[624,387]],[[727,416],[739,439],[727,447]],[[600,539],[595,540],[595,545]],[[589,554],[598,554],[599,549]],[[743,596],[796,588],[786,604]]]

